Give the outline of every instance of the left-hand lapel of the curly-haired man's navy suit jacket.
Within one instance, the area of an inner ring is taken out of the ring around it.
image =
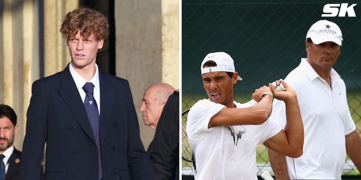
[[[77,119],[79,125],[95,144],[95,138],[93,130],[91,129],[88,114],[77,89],[77,85],[75,85],[74,79],[70,74],[69,64],[61,72],[61,88],[59,88],[58,91],[65,100],[66,104],[68,104],[70,111]]]

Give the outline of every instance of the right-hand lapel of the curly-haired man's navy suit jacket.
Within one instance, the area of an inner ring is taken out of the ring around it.
[[[110,115],[113,111],[115,101],[115,87],[110,80],[105,76],[104,72],[99,71],[99,85],[100,85],[100,143],[103,142],[106,127],[110,120]]]

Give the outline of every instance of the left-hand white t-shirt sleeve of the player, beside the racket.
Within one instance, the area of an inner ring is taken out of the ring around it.
[[[199,100],[194,104],[187,118],[188,138],[199,140],[204,132],[211,131],[214,127],[208,128],[210,118],[225,107],[225,105],[211,102],[208,99]]]

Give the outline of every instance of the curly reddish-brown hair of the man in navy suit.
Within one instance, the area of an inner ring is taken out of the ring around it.
[[[77,35],[78,30],[83,38],[94,34],[96,40],[105,39],[109,35],[109,24],[105,15],[89,8],[78,8],[65,15],[60,32],[68,40]]]

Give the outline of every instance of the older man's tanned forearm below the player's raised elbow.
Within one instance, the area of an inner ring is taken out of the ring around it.
[[[268,149],[268,156],[276,179],[290,179],[288,175],[286,156]]]

